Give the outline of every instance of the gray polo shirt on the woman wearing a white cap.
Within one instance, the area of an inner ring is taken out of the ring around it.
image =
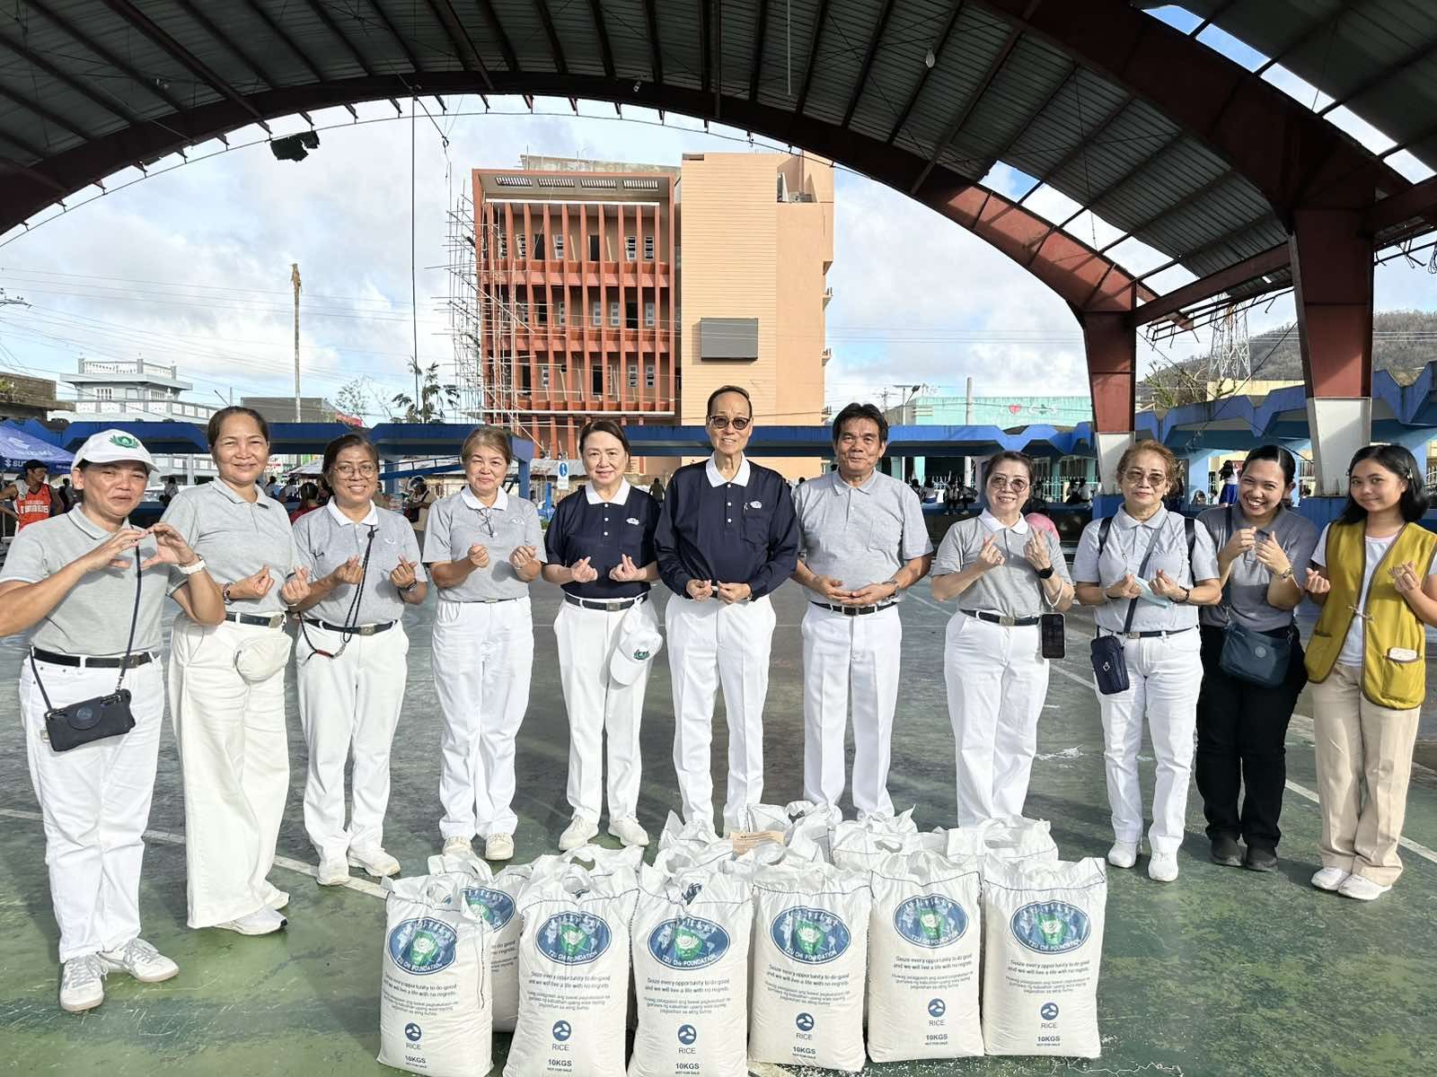
[[[0,583],[39,583],[49,579],[112,534],[85,516],[83,508],[33,523],[10,543],[10,553],[0,569]],[[138,549],[139,560],[148,560],[155,556],[155,540],[145,536]],[[129,557],[134,559],[134,553]],[[160,610],[170,590],[168,584],[170,572],[164,564],[141,573],[135,651],[160,648]],[[63,655],[124,655],[134,612],[134,563],[128,569],[96,569],[75,584],[30,630],[30,643]]]

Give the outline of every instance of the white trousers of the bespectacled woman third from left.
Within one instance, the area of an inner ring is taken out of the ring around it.
[[[389,747],[404,705],[410,639],[395,625],[374,636],[343,636],[305,625],[296,645],[299,719],[309,747],[305,830],[320,860],[343,860],[351,849],[384,846],[389,806]],[[345,830],[345,763],[354,754],[354,810]]]

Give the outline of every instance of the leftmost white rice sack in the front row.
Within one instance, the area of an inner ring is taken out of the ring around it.
[[[489,929],[461,873],[385,880],[379,1061],[428,1077],[487,1077]]]

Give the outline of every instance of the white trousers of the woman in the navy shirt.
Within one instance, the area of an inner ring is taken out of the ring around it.
[[[575,819],[599,821],[604,807],[604,734],[609,734],[609,821],[638,813],[638,731],[652,662],[632,684],[609,679],[609,656],[628,610],[583,609],[565,602],[553,622],[559,640],[559,679],[569,711],[569,806]],[[638,615],[657,628],[654,606],[639,603]]]

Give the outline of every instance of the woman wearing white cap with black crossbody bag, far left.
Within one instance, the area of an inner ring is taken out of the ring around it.
[[[171,586],[198,623],[217,625],[224,607],[174,527],[126,524],[154,470],[129,434],[93,435],[70,472],[80,505],[26,527],[0,570],[0,636],[30,633],[20,715],[60,928],[60,1008],[70,1012],[105,999],[109,972],[152,984],[180,971],[139,938],[139,866],[165,709],[160,615]],[[99,707],[116,682],[132,724]],[[76,728],[86,709],[102,714],[89,732]]]

